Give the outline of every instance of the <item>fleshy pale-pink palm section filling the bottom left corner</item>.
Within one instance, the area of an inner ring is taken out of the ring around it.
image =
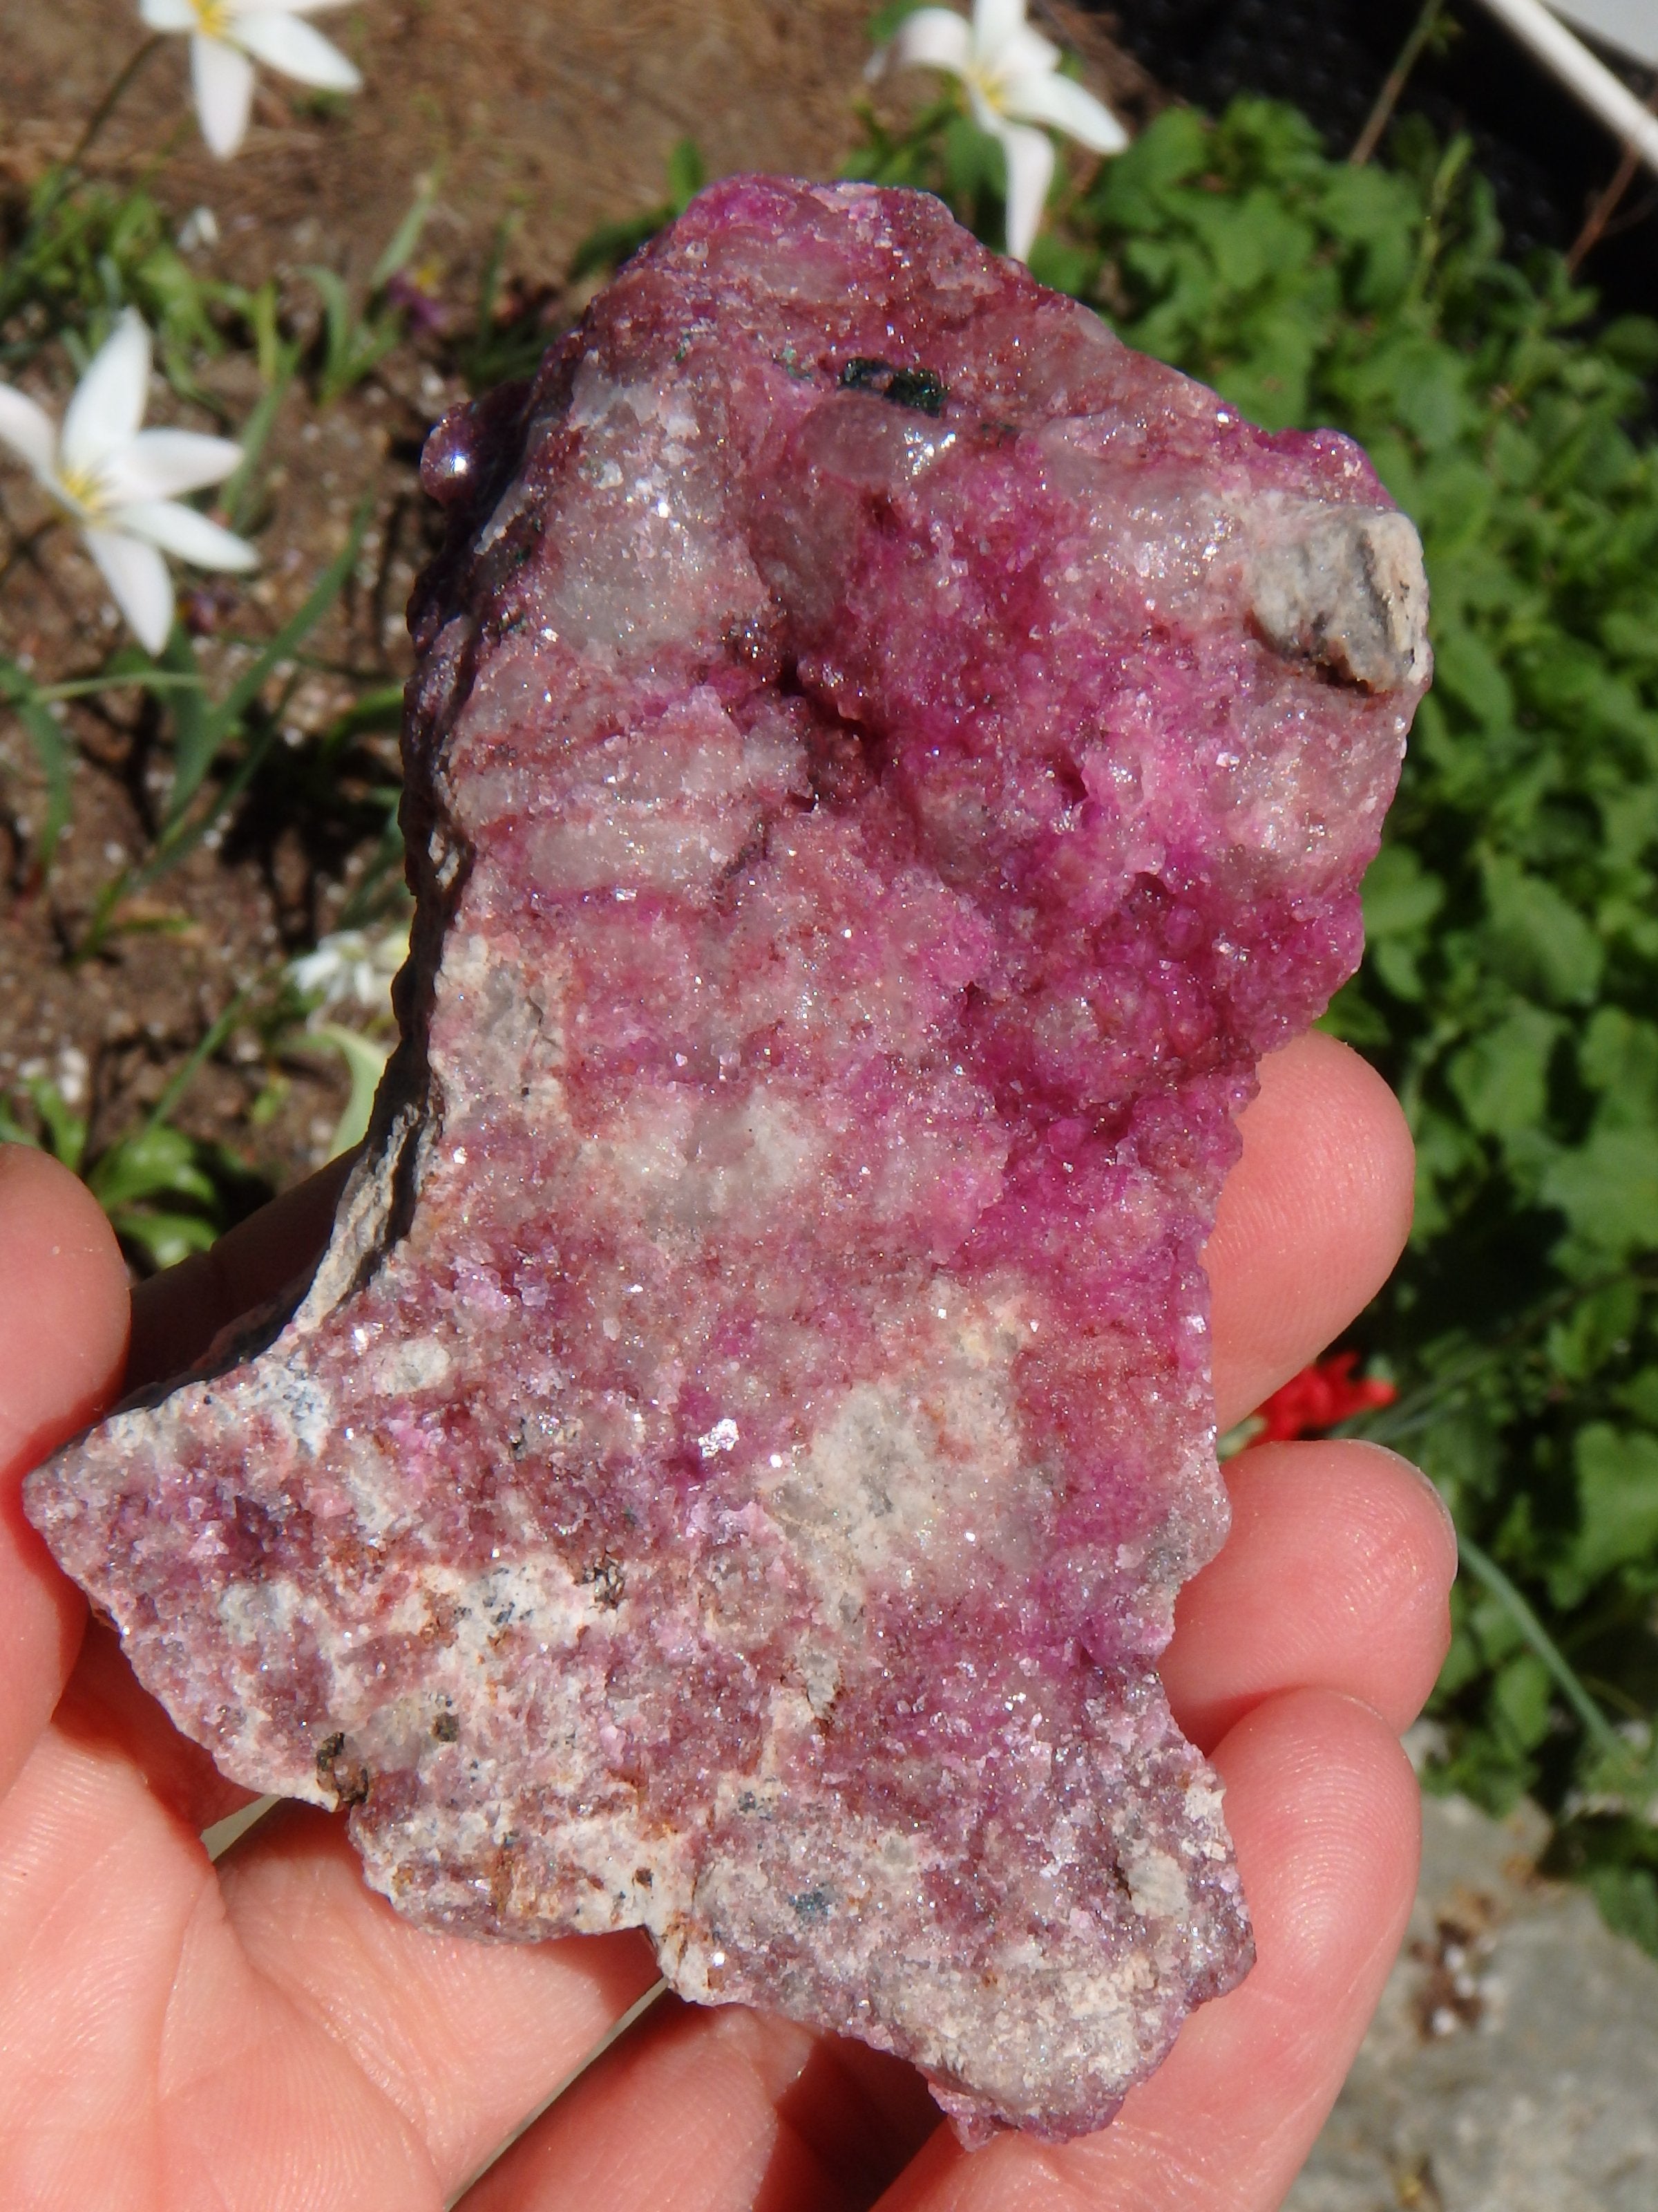
[[[0,1801],[0,1863],[9,2203],[436,2212],[416,2132],[250,1969],[119,1750],[53,1723]]]

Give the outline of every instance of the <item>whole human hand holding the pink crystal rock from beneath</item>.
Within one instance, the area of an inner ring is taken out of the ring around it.
[[[307,1186],[133,1301],[166,1374],[314,1250]],[[1220,1422],[1386,1276],[1410,1146],[1326,1037],[1262,1066],[1209,1245]],[[654,1982],[637,1936],[515,1947],[398,1920],[336,1816],[245,1803],[139,1690],[22,1520],[20,1480],[128,1354],[115,1241],[53,1161],[0,1150],[0,2201],[15,2212],[436,2212]],[[1163,1674],[1227,1783],[1258,1962],[1103,2135],[964,2154],[920,2077],[741,2006],[661,2000],[464,2194],[466,2212],[1269,2212],[1375,2006],[1410,1907],[1397,1747],[1446,1648],[1450,1526],[1353,1442],[1227,1469],[1231,1537]],[[884,2194],[882,2194],[884,2192]]]

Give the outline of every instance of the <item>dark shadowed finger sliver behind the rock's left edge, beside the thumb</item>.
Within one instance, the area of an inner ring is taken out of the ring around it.
[[[128,1385],[183,1374],[225,1323],[303,1281],[318,1261],[334,1221],[334,1206],[356,1152],[345,1152],[309,1181],[261,1206],[208,1252],[133,1292],[133,1352]]]

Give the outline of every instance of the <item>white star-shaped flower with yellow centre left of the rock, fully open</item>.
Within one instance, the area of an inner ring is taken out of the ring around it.
[[[159,653],[172,628],[172,577],[157,546],[197,568],[252,568],[259,555],[175,498],[221,484],[241,447],[190,429],[139,429],[148,396],[150,334],[128,307],[75,387],[62,436],[44,407],[0,385],[0,442],[75,524],[139,644]]]

